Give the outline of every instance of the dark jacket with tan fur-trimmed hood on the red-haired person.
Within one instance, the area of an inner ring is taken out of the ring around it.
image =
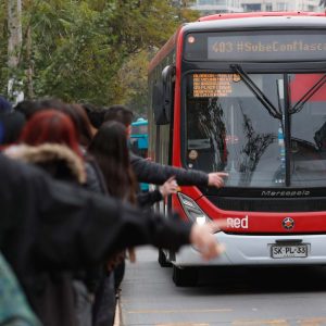
[[[84,161],[63,145],[43,143],[35,147],[20,145],[10,147],[5,153],[21,162],[41,167],[57,180],[73,185],[86,183]],[[74,275],[75,273],[57,269],[45,271],[39,275],[33,308],[43,325],[77,325],[73,289]]]

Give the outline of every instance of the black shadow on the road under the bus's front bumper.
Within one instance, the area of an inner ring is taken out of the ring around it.
[[[201,267],[195,288],[200,294],[326,291],[326,267]]]

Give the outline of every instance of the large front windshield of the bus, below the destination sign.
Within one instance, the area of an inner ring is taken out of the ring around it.
[[[324,75],[189,74],[187,167],[227,171],[231,187],[324,187]]]

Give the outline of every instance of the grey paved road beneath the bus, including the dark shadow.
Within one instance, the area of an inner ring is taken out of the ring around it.
[[[137,251],[122,288],[123,326],[326,325],[326,268],[204,269],[177,288],[154,249]]]

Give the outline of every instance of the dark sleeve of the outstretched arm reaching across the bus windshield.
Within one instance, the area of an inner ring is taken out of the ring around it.
[[[162,165],[140,156],[130,154],[130,163],[139,183],[163,185],[170,177],[175,176],[180,186],[208,186],[209,175],[198,170],[186,170]]]

